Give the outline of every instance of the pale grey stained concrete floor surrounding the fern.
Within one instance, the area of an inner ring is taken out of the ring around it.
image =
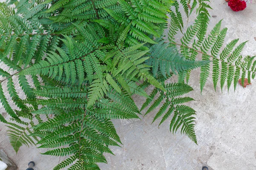
[[[256,0],[247,2],[244,11],[233,12],[224,0],[213,0],[211,6],[216,15],[210,20],[213,27],[223,20],[222,27],[229,28],[226,41],[240,38],[249,40],[243,55],[256,55]],[[193,17],[189,21],[192,21]],[[190,22],[188,22],[190,24]],[[115,156],[106,154],[108,164],[100,164],[102,170],[256,170],[256,94],[255,81],[243,89],[238,86],[227,93],[224,88],[214,91],[209,79],[202,95],[199,90],[200,70],[192,72],[189,82],[195,91],[189,96],[196,101],[189,105],[197,111],[195,131],[198,145],[186,136],[172,135],[169,122],[157,128],[157,121],[151,125],[154,113],[143,120],[115,120],[117,132],[123,142],[122,148],[112,147]],[[170,81],[175,80],[173,78]],[[148,89],[151,91],[151,89]],[[135,96],[140,107],[144,101]],[[0,112],[5,112],[0,106]],[[9,144],[6,127],[0,124],[0,149],[15,162],[19,170],[25,170],[31,160],[36,162],[35,170],[52,170],[63,157],[43,156],[35,147],[20,147],[17,155]]]

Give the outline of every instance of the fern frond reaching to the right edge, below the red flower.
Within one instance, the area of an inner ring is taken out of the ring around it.
[[[255,73],[252,74],[254,71],[256,71],[255,66],[253,66],[253,63],[255,62],[253,61],[254,57],[248,56],[243,59],[241,56],[241,51],[246,42],[242,42],[237,45],[239,39],[232,40],[226,46],[223,45],[227,34],[227,28],[221,29],[221,21],[215,25],[207,36],[207,25],[205,25],[204,22],[208,22],[208,20],[208,14],[202,11],[198,15],[197,20],[195,20],[194,25],[189,26],[185,32],[181,39],[181,44],[172,42],[172,46],[174,44],[179,46],[181,54],[186,57],[186,59],[195,60],[198,53],[202,54],[203,61],[209,61],[212,58],[212,65],[207,63],[201,67],[201,92],[203,91],[207,79],[209,78],[211,70],[212,82],[215,91],[218,82],[220,82],[221,91],[223,90],[225,83],[227,83],[228,90],[233,83],[235,90],[237,82],[241,76],[243,79],[245,77],[247,77],[247,79],[253,79],[255,77]],[[174,35],[170,33],[169,36],[173,37]],[[169,39],[172,40],[172,37],[169,37]],[[193,42],[192,48],[189,48],[189,43],[191,42]],[[223,46],[224,49],[221,51]],[[208,54],[209,52],[210,54]],[[189,76],[190,71],[183,71],[183,74],[179,75],[179,82],[184,82],[185,78],[186,82],[188,82]],[[242,81],[242,83],[244,82]]]

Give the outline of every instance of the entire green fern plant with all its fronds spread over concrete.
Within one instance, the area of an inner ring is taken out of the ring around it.
[[[187,17],[193,9],[198,17],[177,44],[174,36],[183,31],[180,4]],[[171,132],[180,128],[197,143],[195,110],[183,105],[193,99],[182,96],[193,90],[184,83],[190,71],[201,67],[202,90],[210,58],[215,88],[219,77],[221,88],[226,81],[228,88],[236,85],[241,72],[242,82],[246,72],[250,81],[256,69],[254,57],[240,56],[245,42],[229,55],[238,42],[233,40],[218,55],[227,29],[221,30],[220,22],[206,38],[209,8],[204,0],[1,3],[0,61],[5,67],[0,68],[0,102],[9,116],[0,114],[0,121],[9,127],[14,150],[36,144],[47,148],[45,155],[69,156],[54,170],[98,170],[97,163],[107,163],[103,154],[113,154],[108,146],[122,145],[111,119],[141,119],[143,110],[147,115],[160,105],[153,122],[162,117],[161,125],[170,117]],[[196,60],[198,53],[202,61]],[[174,74],[178,82],[166,84]],[[15,77],[24,97],[17,93]],[[154,86],[150,94],[148,86]],[[146,98],[140,109],[134,94]]]

